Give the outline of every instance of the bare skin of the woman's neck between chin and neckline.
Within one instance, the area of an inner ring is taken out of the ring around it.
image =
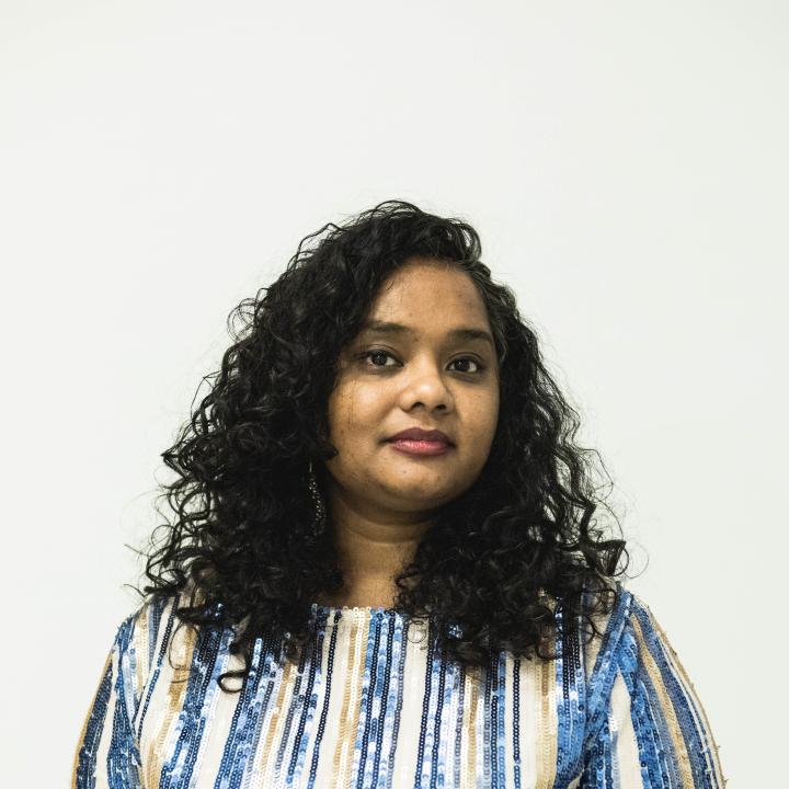
[[[330,606],[393,608],[395,578],[412,559],[431,527],[430,516],[388,512],[350,501],[336,488],[330,494],[334,540],[344,586],[324,595]]]

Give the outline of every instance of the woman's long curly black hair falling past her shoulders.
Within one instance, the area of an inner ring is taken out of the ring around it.
[[[396,609],[428,617],[436,649],[466,666],[488,665],[499,650],[554,659],[557,627],[602,634],[595,615],[610,613],[629,554],[593,521],[598,505],[614,514],[593,483],[588,455],[599,455],[575,445],[579,414],[480,254],[466,221],[386,201],[307,236],[276,282],[230,312],[233,344],[161,455],[176,478],[160,483],[157,502],[172,515],[148,552],[133,549],[151,581],[134,587],[140,595],[187,599],[175,613],[198,632],[232,626],[230,651],[244,670],[222,674],[224,690],[227,677],[247,677],[264,633],[282,639],[281,660],[300,660],[316,631],[312,602],[343,585],[331,526],[313,534],[307,471],[311,464],[322,487],[322,461],[338,454],[328,400],[342,350],[385,281],[414,258],[457,266],[477,286],[499,356],[500,414],[480,476],[395,580]]]

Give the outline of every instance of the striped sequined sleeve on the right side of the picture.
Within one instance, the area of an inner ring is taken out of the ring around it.
[[[605,700],[591,718],[582,789],[725,786],[696,689],[649,607],[630,592],[611,615],[598,668],[590,698],[602,688]]]

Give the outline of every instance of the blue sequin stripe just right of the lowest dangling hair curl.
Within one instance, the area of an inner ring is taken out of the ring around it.
[[[263,655],[270,655],[273,648],[274,639],[271,634],[266,638],[259,637],[254,641],[249,674],[243,681],[239,700],[233,710],[219,770],[214,782],[215,789],[239,789],[241,786],[247,762],[253,755],[249,741],[261,714],[261,706],[255,701],[263,673]]]

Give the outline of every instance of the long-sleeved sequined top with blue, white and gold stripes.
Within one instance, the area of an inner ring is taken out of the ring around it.
[[[225,683],[240,694],[217,685],[243,665],[232,628],[176,630],[175,598],[146,602],[117,629],[71,786],[722,787],[676,653],[643,601],[616,588],[602,639],[474,671],[442,660],[424,620],[313,604],[300,664],[258,638],[247,681]]]

